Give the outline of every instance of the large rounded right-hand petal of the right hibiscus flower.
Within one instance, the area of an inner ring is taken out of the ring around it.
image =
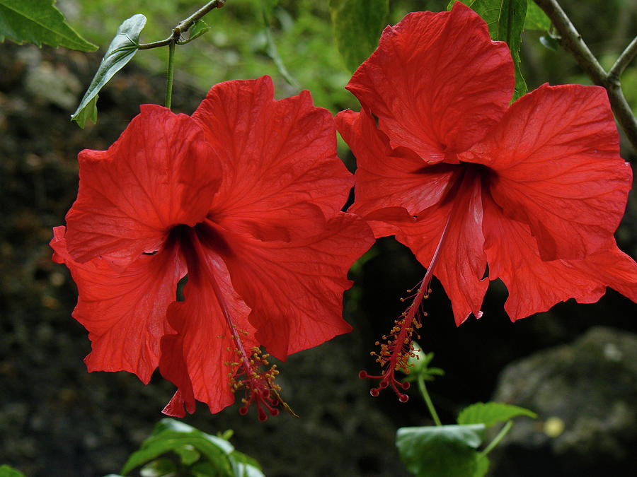
[[[493,199],[505,216],[530,225],[544,260],[605,249],[632,183],[606,92],[597,86],[541,86],[463,160],[495,171]]]

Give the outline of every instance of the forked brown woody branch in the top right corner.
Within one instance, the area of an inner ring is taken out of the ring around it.
[[[624,129],[626,137],[637,152],[637,119],[624,98],[621,83],[619,83],[619,74],[637,54],[637,38],[624,49],[612,69],[607,73],[587,47],[582,35],[578,33],[578,30],[575,30],[575,26],[570,22],[557,0],[535,0],[535,3],[546,13],[546,16],[551,18],[553,25],[561,35],[561,45],[573,55],[575,61],[592,79],[593,83],[606,88],[617,122],[621,129]]]

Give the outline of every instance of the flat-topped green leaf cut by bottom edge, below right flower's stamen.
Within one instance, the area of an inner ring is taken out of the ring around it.
[[[400,428],[396,447],[408,471],[418,477],[476,476],[481,457],[476,449],[484,439],[485,427],[438,425]]]

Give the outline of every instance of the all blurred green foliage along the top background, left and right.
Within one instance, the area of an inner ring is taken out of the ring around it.
[[[108,47],[117,27],[135,13],[148,18],[142,42],[168,37],[180,20],[202,6],[197,0],[60,0],[59,8],[69,22],[88,40]],[[387,23],[396,23],[409,11],[443,11],[448,0],[391,0]],[[287,71],[302,88],[309,89],[317,106],[332,112],[357,109],[355,98],[344,87],[350,72],[340,57],[333,37],[328,1],[267,0],[267,17],[278,53]],[[587,44],[604,66],[612,64],[637,35],[637,2],[611,0],[578,2],[562,0],[561,5]],[[226,6],[205,16],[211,30],[176,54],[176,88],[188,86],[202,92],[229,79],[256,78],[269,74],[275,81],[277,98],[297,93],[289,86],[268,56],[261,0],[227,0]],[[584,83],[590,80],[563,50],[552,52],[539,43],[539,32],[525,33],[522,39],[522,73],[529,90],[549,81]],[[162,75],[167,48],[139,54],[135,59],[149,71]],[[631,64],[621,78],[624,93],[637,111],[637,66]],[[157,93],[161,102],[162,93]],[[176,109],[180,105],[175,105]]]

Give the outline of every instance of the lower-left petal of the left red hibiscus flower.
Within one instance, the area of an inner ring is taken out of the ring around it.
[[[84,362],[89,372],[128,371],[148,384],[159,364],[159,340],[173,331],[166,310],[176,300],[185,266],[176,248],[144,255],[125,271],[107,261],[84,264],[67,252],[64,227],[54,228],[54,260],[66,263],[77,285],[73,317],[88,330],[92,351]]]

